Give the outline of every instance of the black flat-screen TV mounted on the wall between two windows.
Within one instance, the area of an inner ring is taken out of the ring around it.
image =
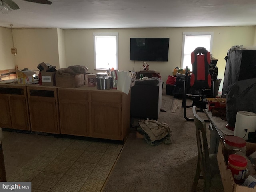
[[[131,61],[168,61],[169,38],[131,38]]]

